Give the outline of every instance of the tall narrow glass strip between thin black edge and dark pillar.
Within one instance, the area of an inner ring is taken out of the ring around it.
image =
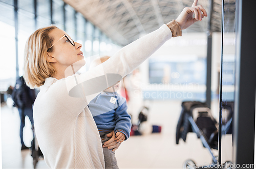
[[[235,72],[236,1],[224,1],[223,63],[222,63],[222,142],[221,162],[232,162],[232,122]]]

